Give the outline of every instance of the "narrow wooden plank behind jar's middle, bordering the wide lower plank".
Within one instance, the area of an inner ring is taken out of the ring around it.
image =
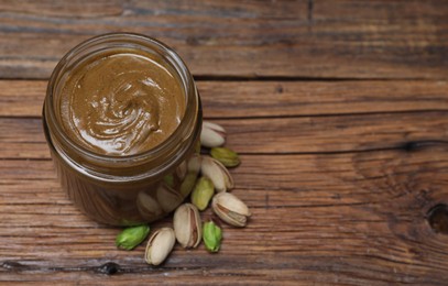
[[[214,120],[239,153],[332,153],[446,144],[448,111]],[[1,157],[48,158],[40,119],[0,118]]]

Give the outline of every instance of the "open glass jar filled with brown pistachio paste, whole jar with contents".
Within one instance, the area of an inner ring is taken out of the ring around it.
[[[73,48],[48,81],[43,125],[58,178],[94,220],[163,218],[194,187],[200,99],[179,56],[139,34]]]

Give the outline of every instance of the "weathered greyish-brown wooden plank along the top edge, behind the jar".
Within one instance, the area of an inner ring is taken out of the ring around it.
[[[0,7],[0,78],[47,78],[77,43],[117,31],[166,42],[200,76],[448,76],[442,0],[22,2]]]

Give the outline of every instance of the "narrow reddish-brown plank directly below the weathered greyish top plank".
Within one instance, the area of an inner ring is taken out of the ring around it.
[[[206,118],[448,110],[448,81],[204,81]],[[0,80],[0,117],[40,117],[46,81]]]

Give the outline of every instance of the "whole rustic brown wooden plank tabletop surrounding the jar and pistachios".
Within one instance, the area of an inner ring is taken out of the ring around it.
[[[151,267],[56,180],[46,80],[116,31],[178,51],[242,155],[219,254]],[[0,78],[0,283],[448,285],[447,1],[2,0]]]

